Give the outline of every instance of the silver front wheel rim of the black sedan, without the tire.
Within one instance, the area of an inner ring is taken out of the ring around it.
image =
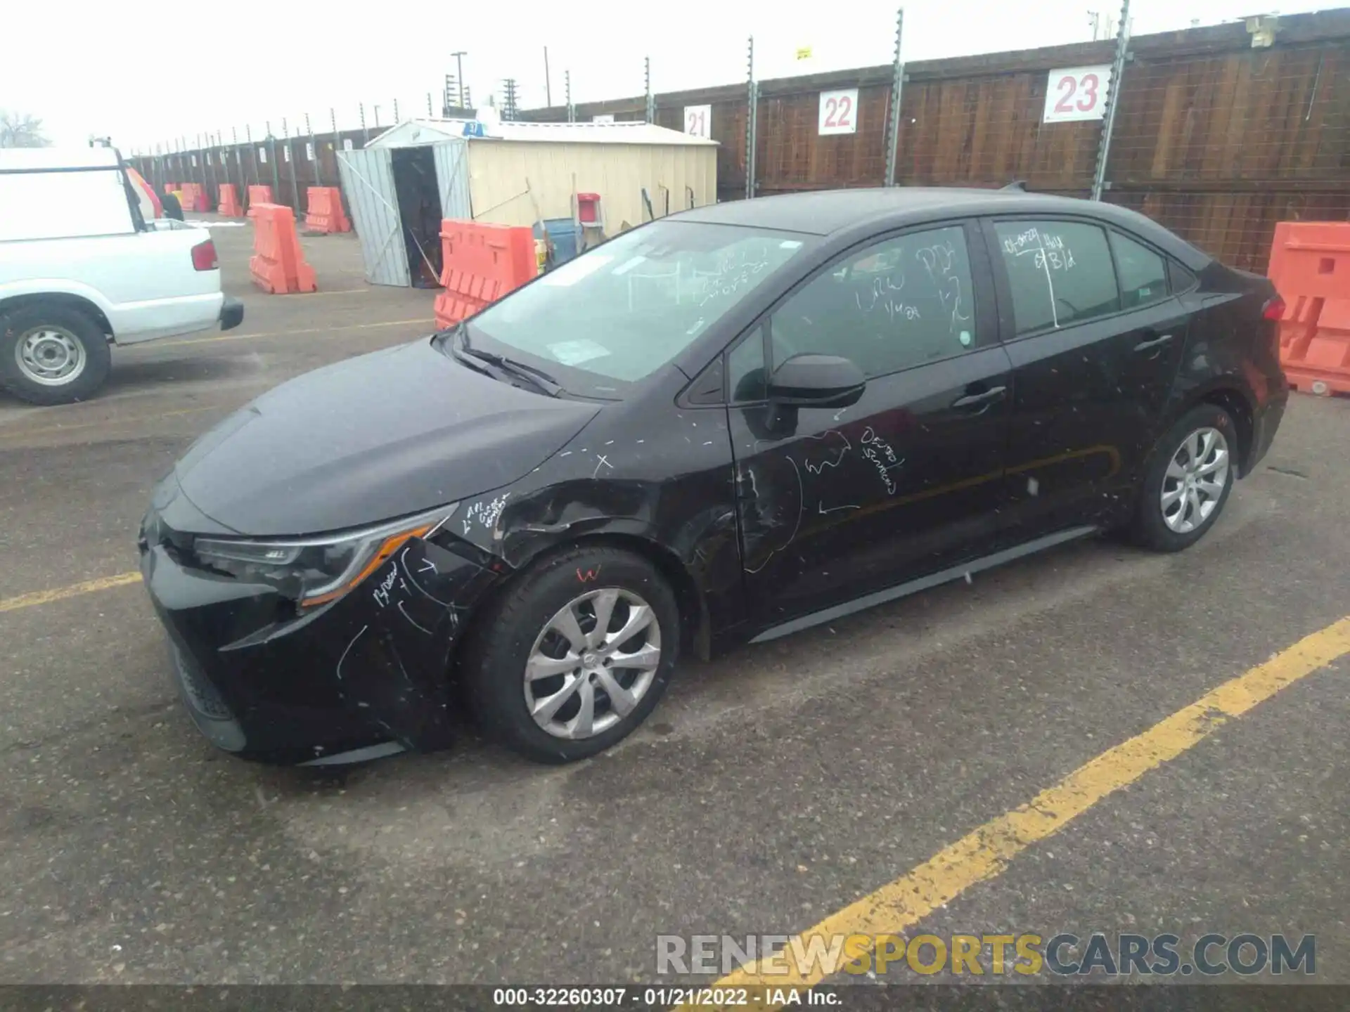
[[[525,663],[525,706],[555,738],[591,738],[630,712],[662,663],[656,613],[629,590],[582,594],[548,621]]]

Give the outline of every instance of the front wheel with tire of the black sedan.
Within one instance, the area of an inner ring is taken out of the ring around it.
[[[641,556],[602,545],[549,556],[483,615],[464,657],[483,729],[540,762],[572,762],[628,737],[679,654],[679,607]]]

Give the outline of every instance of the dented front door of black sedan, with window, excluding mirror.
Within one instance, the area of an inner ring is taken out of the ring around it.
[[[753,619],[776,625],[992,551],[1011,362],[983,239],[965,223],[855,247],[728,356],[737,514]],[[846,407],[765,385],[801,354],[867,376]]]

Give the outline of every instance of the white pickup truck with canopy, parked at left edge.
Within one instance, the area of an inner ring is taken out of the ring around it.
[[[115,148],[0,150],[0,387],[70,403],[108,378],[112,344],[228,331],[209,232],[146,220]]]

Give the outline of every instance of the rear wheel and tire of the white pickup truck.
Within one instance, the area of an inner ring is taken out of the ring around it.
[[[112,368],[108,337],[72,306],[36,302],[0,316],[0,386],[30,403],[84,401]]]

